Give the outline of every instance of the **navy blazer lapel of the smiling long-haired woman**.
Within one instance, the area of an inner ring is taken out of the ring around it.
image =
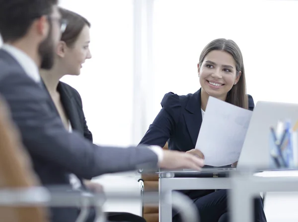
[[[184,119],[194,148],[202,124],[201,89],[191,95],[184,112]]]

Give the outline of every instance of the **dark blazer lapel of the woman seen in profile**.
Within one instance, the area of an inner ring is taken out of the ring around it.
[[[60,93],[60,98],[61,98],[63,108],[70,119],[72,128],[83,134],[83,125],[82,125],[82,121],[80,121],[81,118],[77,111],[77,105],[74,100],[74,97],[63,86],[63,84],[61,84],[61,82],[58,84],[57,90]]]

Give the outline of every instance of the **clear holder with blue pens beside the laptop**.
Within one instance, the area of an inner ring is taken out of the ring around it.
[[[297,132],[287,131],[283,141],[273,133],[269,135],[270,169],[293,169],[297,167]]]

